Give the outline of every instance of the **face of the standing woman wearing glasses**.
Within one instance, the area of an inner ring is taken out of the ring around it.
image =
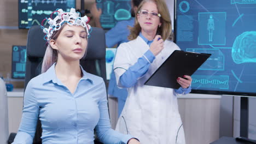
[[[137,19],[142,31],[155,32],[158,26],[161,26],[158,8],[153,2],[146,2],[142,5],[140,13],[137,14]]]

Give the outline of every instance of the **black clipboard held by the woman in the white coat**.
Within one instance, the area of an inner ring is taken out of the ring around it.
[[[177,78],[193,75],[210,56],[208,53],[175,50],[144,85],[178,89],[181,85]]]

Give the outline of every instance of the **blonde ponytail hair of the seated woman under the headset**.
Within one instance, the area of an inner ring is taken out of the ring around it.
[[[67,23],[63,23],[61,28],[58,31],[55,31],[53,33],[53,35],[51,36],[51,39],[56,40],[59,37],[62,29],[66,25],[67,25]],[[88,39],[88,35],[86,34],[86,40],[87,39]],[[87,51],[87,49],[86,49],[86,51]],[[84,57],[86,55],[86,51],[85,51]],[[41,73],[44,73],[45,71],[47,71],[51,67],[51,65],[53,65],[55,62],[57,62],[57,59],[58,59],[58,52],[57,52],[57,50],[53,49],[53,47],[51,47],[51,45],[48,44],[48,46],[46,47],[45,53],[44,53]]]

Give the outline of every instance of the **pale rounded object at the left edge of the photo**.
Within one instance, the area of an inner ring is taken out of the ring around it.
[[[0,143],[7,144],[9,135],[7,91],[0,77]]]

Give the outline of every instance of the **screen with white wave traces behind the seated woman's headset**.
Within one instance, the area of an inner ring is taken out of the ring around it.
[[[69,12],[71,8],[75,8],[75,0],[19,0],[19,28],[41,25],[56,9]]]

